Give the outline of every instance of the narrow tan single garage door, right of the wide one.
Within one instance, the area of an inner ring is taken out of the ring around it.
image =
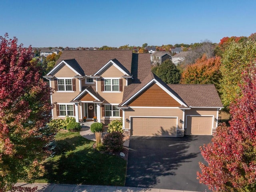
[[[213,120],[212,117],[207,117],[207,116],[188,116],[186,134],[211,135],[212,120]]]

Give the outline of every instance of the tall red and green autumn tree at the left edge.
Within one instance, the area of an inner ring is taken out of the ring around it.
[[[18,179],[33,182],[44,174],[45,146],[56,133],[46,126],[52,90],[40,78],[32,48],[17,42],[0,36],[0,191],[17,189]]]

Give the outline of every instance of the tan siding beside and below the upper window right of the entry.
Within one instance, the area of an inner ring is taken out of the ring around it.
[[[123,79],[123,86],[126,85],[126,80]],[[112,92],[112,93],[105,93],[101,91],[101,82],[100,79],[97,79],[97,89],[100,96],[102,96],[107,102],[109,103],[116,103],[120,104],[123,99],[123,91],[122,92]]]

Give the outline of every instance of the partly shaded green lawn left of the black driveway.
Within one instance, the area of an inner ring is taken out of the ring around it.
[[[46,161],[46,174],[36,182],[124,186],[126,161],[97,152],[93,144],[79,132],[58,132],[56,154]]]

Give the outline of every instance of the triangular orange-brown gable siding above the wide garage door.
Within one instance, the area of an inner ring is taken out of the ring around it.
[[[153,84],[140,96],[128,103],[130,106],[178,107],[180,104],[157,84]]]

